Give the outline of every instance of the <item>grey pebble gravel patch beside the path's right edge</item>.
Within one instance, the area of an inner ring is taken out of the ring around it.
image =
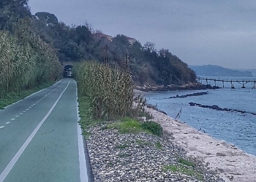
[[[91,135],[86,140],[94,181],[223,181],[199,161],[193,161],[194,168],[181,165],[178,159],[188,159],[187,152],[172,142],[171,135],[119,134],[102,127],[89,128]],[[170,165],[193,176],[165,170]]]

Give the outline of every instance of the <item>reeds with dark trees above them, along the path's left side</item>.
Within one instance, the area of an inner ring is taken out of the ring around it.
[[[61,75],[56,52],[31,25],[26,0],[0,2],[0,70],[0,98]]]

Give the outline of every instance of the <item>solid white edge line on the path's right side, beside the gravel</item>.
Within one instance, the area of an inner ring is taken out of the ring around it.
[[[78,87],[76,87],[76,96],[78,100]],[[78,101],[77,101],[77,114],[78,122],[80,121]],[[79,155],[79,167],[80,167],[80,182],[88,182],[88,171],[86,167],[86,155],[83,146],[83,134],[80,125],[78,124],[78,155]]]

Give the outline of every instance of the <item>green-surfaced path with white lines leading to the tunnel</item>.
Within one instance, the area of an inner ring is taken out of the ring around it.
[[[73,79],[0,110],[0,181],[89,181],[80,134]]]

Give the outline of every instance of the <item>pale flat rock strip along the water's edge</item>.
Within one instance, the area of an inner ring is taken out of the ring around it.
[[[238,149],[233,144],[219,141],[187,124],[178,122],[170,116],[146,108],[154,121],[163,130],[173,135],[171,142],[187,151],[186,156],[203,162],[208,170],[216,172],[225,181],[256,181],[256,157]]]

